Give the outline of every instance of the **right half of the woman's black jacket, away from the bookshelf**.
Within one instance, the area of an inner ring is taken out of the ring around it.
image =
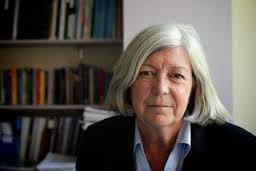
[[[236,170],[239,167],[247,170],[247,167],[255,168],[251,157],[254,154],[256,137],[239,126],[191,124],[191,149],[184,161],[184,170]],[[212,165],[213,161],[217,164]]]

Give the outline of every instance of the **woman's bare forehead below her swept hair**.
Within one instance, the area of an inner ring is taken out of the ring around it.
[[[166,48],[153,52],[143,63],[143,65],[147,64],[155,67],[174,65],[191,69],[190,59],[183,47]]]

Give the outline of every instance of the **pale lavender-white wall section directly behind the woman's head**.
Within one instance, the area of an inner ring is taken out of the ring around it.
[[[232,112],[230,0],[124,0],[124,46],[146,26],[172,22],[198,31],[220,99]]]

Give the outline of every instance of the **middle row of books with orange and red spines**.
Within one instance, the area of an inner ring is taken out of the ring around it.
[[[103,104],[111,74],[95,66],[0,70],[0,104]]]

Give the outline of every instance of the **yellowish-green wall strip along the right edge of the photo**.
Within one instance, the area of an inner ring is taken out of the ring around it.
[[[255,9],[255,0],[232,0],[234,122],[256,135]]]

